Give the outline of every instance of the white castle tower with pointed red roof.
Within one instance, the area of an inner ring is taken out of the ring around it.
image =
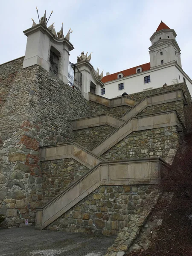
[[[149,47],[151,69],[162,64],[177,62],[181,67],[180,48],[175,40],[177,34],[163,21],[159,24],[156,32],[151,36]]]

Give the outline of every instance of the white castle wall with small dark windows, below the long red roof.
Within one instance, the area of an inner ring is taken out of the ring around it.
[[[149,75],[151,77],[151,82],[145,84],[144,77]],[[183,74],[180,72],[180,70],[178,70],[175,65],[157,70],[148,70],[145,72],[134,74],[132,76],[123,77],[121,79],[116,79],[111,82],[105,83],[105,94],[102,96],[111,99],[121,96],[125,92],[131,94],[143,91],[145,89],[154,89],[157,87],[162,87],[165,83],[167,85],[172,84],[173,79],[177,79],[178,83],[181,83],[183,82],[183,77],[186,79],[186,77],[183,76]],[[118,90],[118,85],[120,83],[124,83],[124,90]],[[186,84],[189,88],[189,92],[192,95],[192,83],[188,79],[186,79]]]

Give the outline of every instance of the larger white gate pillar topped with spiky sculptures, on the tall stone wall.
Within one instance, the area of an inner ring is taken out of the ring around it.
[[[74,47],[69,41],[70,32],[63,35],[63,24],[58,33],[53,25],[47,27],[45,12],[40,23],[33,21],[32,27],[23,31],[27,36],[23,68],[38,64],[67,84],[69,56]]]

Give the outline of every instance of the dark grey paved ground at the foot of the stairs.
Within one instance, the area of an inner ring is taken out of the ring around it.
[[[0,256],[103,256],[115,237],[35,230],[0,230]]]

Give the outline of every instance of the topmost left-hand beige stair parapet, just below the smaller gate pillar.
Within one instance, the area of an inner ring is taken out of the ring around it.
[[[138,103],[137,100],[131,99],[127,96],[120,96],[120,97],[108,99],[103,96],[100,96],[100,95],[97,95],[94,93],[90,93],[90,92],[89,92],[89,100],[99,103],[101,105],[104,105],[108,108],[115,108],[115,107],[119,107],[119,106],[123,106],[123,105],[127,105],[132,108],[133,106],[135,106]]]

